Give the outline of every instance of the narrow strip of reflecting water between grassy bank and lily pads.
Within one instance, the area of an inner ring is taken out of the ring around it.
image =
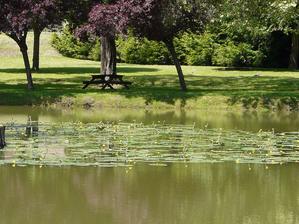
[[[0,106],[0,122],[8,122],[20,118],[20,122],[32,120],[43,122],[68,122],[79,119],[83,123],[95,123],[109,119],[111,122],[137,122],[151,124],[153,121],[166,121],[166,124],[193,124],[203,128],[242,129],[257,132],[275,129],[276,132],[298,131],[299,113],[296,111],[216,111],[216,110],[157,110],[157,109],[86,109],[86,108],[48,108],[25,106]]]

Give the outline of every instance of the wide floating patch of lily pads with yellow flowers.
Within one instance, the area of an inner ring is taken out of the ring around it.
[[[9,131],[5,148],[5,153],[9,153],[5,158],[10,160],[0,160],[1,164],[11,164],[13,159],[36,165],[42,161],[47,165],[115,166],[125,165],[128,159],[151,163],[235,162],[237,159],[239,162],[280,163],[297,162],[299,158],[298,132],[273,134],[223,129],[219,145],[219,129],[208,129],[205,133],[193,125],[156,125],[153,129],[152,125],[141,128],[141,125],[131,124],[128,129],[129,124],[122,123],[113,132],[112,124],[101,124],[103,129],[99,130],[99,124],[94,123],[80,124],[80,128],[71,122],[41,123],[38,137],[25,139],[20,133],[26,130],[26,125],[18,124]]]

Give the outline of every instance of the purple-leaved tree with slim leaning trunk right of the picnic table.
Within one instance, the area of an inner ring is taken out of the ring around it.
[[[184,32],[202,31],[212,13],[213,7],[206,0],[118,0],[116,4],[93,7],[89,24],[78,34],[126,35],[132,30],[136,37],[164,42],[176,65],[181,90],[187,91],[173,38]]]

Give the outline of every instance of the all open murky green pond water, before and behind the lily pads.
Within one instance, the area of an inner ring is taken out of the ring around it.
[[[0,122],[122,120],[298,131],[297,112],[0,107]],[[0,223],[298,223],[298,163],[0,166]]]

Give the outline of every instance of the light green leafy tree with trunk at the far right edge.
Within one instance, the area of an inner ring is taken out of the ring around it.
[[[239,0],[222,2],[222,18],[238,28],[253,27],[292,35],[289,69],[298,69],[299,11],[295,0]]]

